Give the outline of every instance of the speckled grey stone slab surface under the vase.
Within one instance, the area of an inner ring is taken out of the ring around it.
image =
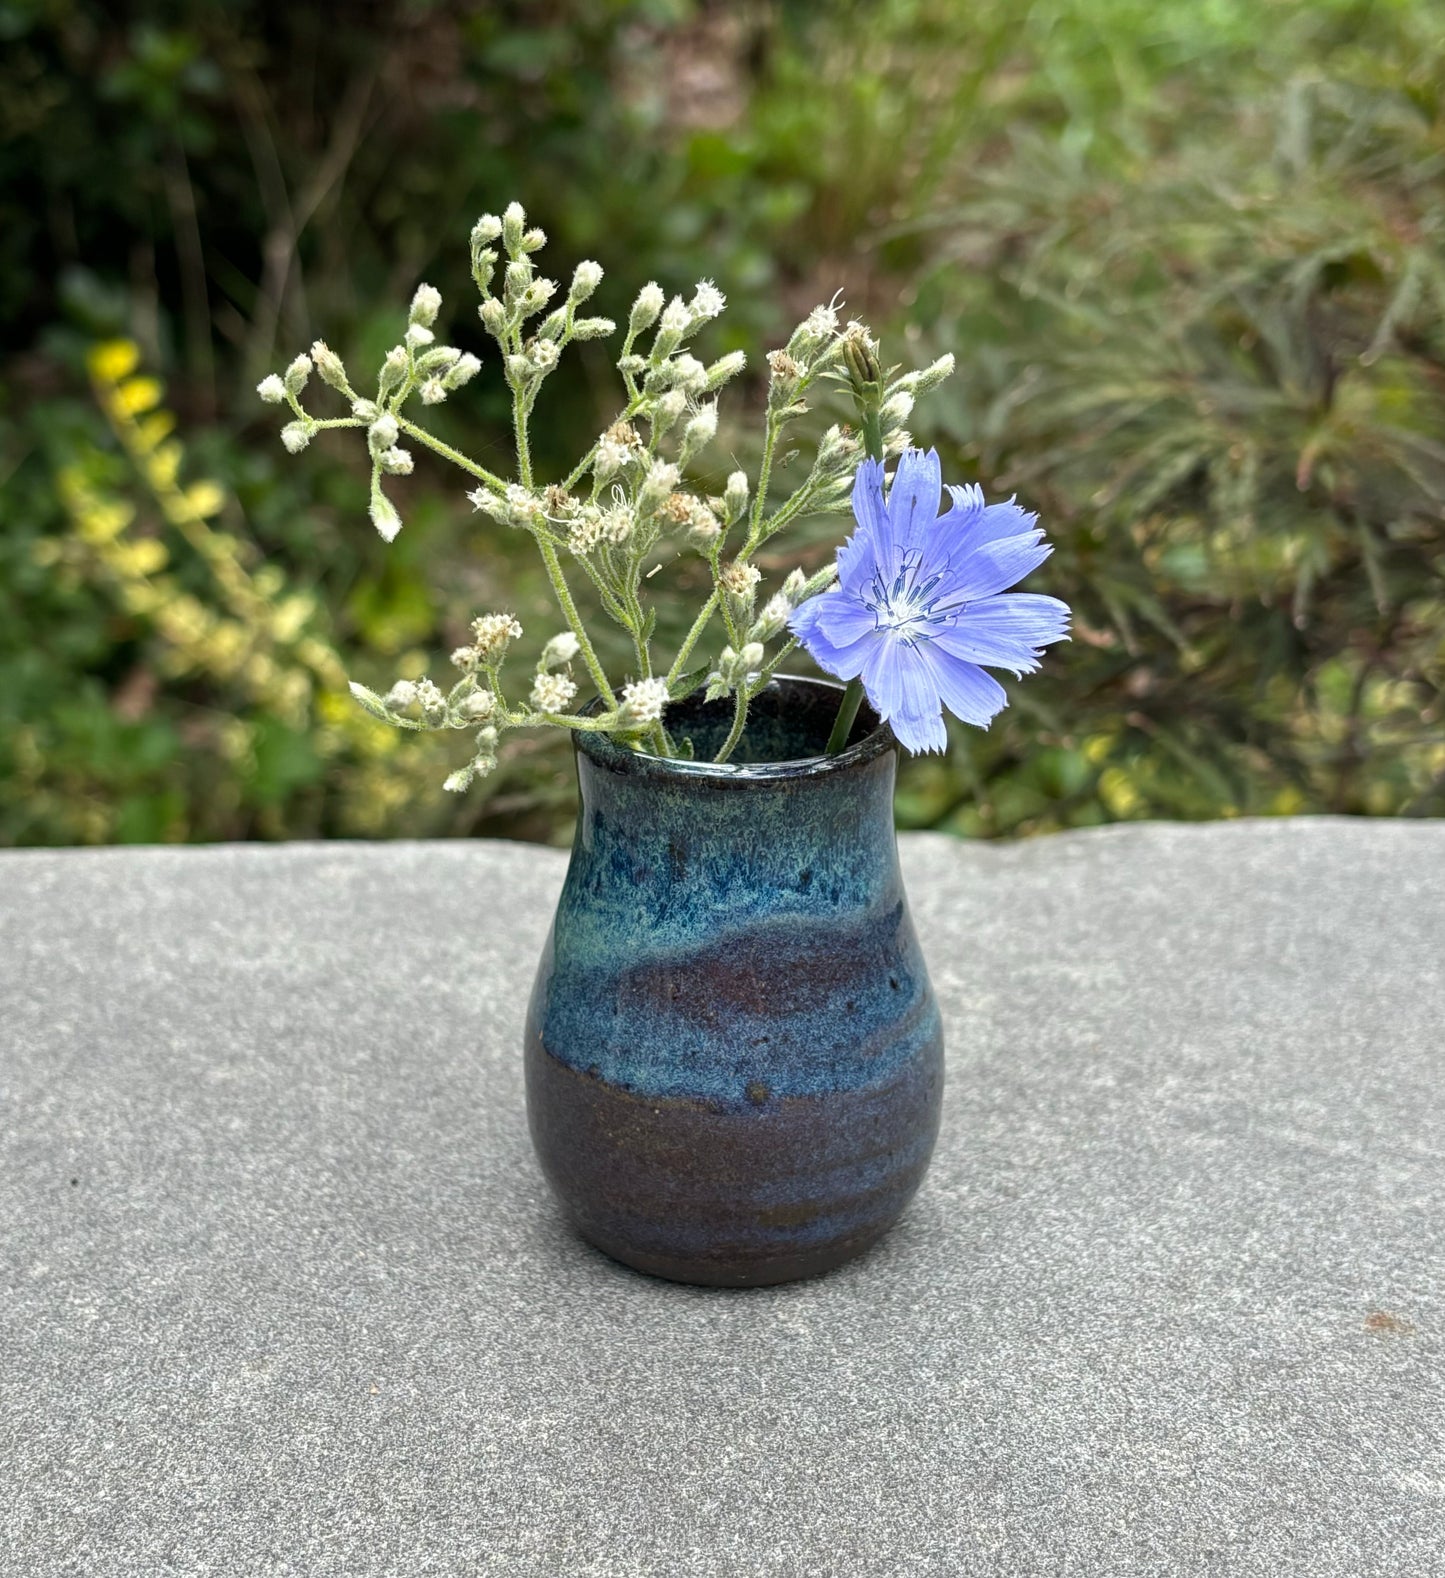
[[[0,855],[3,1578],[1445,1572],[1445,825],[904,839],[939,1152],[759,1291],[551,1202],[563,866]]]

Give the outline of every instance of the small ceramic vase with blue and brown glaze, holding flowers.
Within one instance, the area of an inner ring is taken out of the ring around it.
[[[943,1038],[898,869],[898,746],[779,679],[737,764],[730,702],[667,713],[694,761],[576,735],[582,810],[527,1015],[527,1112],[584,1237],[675,1281],[860,1255],[939,1130]]]

